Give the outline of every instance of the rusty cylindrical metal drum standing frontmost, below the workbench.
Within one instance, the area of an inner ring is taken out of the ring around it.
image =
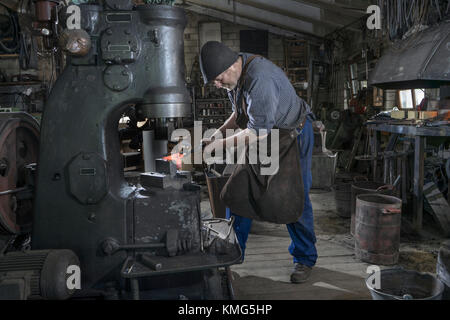
[[[400,246],[402,200],[380,194],[356,197],[356,258],[378,265],[396,264]]]

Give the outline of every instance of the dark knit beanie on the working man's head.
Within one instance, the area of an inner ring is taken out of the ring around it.
[[[200,50],[200,70],[205,84],[227,70],[239,55],[218,41],[206,42]]]

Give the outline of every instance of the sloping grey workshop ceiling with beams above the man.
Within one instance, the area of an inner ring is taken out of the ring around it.
[[[284,35],[318,37],[366,15],[369,0],[177,0],[188,11]],[[347,30],[358,32],[357,24]]]

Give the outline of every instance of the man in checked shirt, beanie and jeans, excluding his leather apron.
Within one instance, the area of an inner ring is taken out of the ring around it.
[[[253,140],[257,140],[258,136],[252,135],[250,129],[265,129],[267,132],[273,128],[298,128],[297,132],[301,130],[297,142],[304,184],[304,209],[297,222],[286,226],[292,239],[289,252],[294,257],[295,264],[291,281],[304,282],[317,260],[313,212],[309,199],[314,144],[310,107],[297,96],[284,72],[263,57],[248,53],[238,54],[220,42],[209,41],[201,49],[200,68],[205,84],[213,82],[217,88],[226,89],[233,106],[232,115],[213,134],[205,152],[211,152],[219,145],[236,145],[240,136],[250,135]],[[238,112],[240,101],[245,103],[244,112]],[[236,128],[243,130],[221,138],[225,136],[226,129]],[[244,254],[252,220],[238,216],[227,208],[227,218],[231,216],[235,217],[234,230]]]

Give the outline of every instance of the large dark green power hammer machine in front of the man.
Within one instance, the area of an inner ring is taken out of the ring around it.
[[[120,155],[118,122],[130,106],[158,132],[191,114],[184,11],[114,0],[79,7],[86,32],[64,39],[73,56],[41,122],[31,252],[71,250],[78,297],[226,298],[219,268],[241,256],[232,221],[202,220],[199,187],[170,163],[127,182]]]

